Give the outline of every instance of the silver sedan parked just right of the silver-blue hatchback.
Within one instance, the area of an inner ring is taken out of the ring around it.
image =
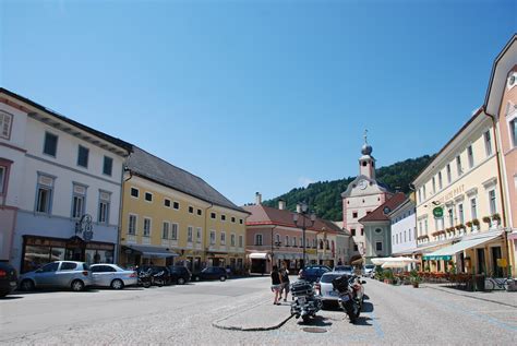
[[[123,270],[116,264],[92,264],[89,269],[92,270],[94,286],[122,289],[125,286],[139,283],[136,272]]]

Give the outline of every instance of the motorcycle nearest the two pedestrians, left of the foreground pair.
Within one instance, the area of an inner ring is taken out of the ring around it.
[[[322,309],[322,300],[315,296],[314,287],[304,281],[291,284],[290,290],[294,300],[291,303],[291,314],[297,319],[301,317],[308,323]]]

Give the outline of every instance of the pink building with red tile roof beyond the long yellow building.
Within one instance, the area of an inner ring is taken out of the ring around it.
[[[292,271],[302,269],[303,231],[293,222],[294,213],[286,210],[286,202],[280,200],[278,208],[265,206],[257,193],[256,203],[243,208],[251,213],[247,219],[245,241],[251,272],[269,273],[273,265],[282,263],[286,263]],[[299,225],[301,217],[298,222]],[[308,224],[310,224],[309,218]],[[325,234],[325,240],[323,240],[323,234]],[[339,260],[345,263],[345,258],[338,258],[338,253],[345,253],[345,249],[337,249],[336,238],[338,235],[344,236],[338,226],[332,222],[316,218],[314,225],[305,230],[308,264],[323,262],[322,264],[334,266]],[[323,241],[326,242],[323,243]],[[323,252],[328,255],[322,256]]]

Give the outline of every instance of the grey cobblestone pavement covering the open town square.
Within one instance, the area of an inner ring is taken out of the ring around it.
[[[214,321],[240,311],[278,321],[286,307],[257,309],[272,300],[268,278],[196,283],[151,289],[35,293],[0,300],[0,343],[285,345],[456,344],[510,345],[517,342],[517,294],[480,294],[483,300],[433,286],[414,289],[368,281],[369,300],[359,324],[338,310],[325,310],[310,325],[294,319],[268,332],[216,329]],[[496,297],[496,296],[493,296]],[[323,332],[323,333],[312,333]]]

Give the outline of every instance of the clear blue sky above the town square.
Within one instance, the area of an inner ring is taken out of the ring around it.
[[[0,0],[0,84],[242,204],[438,151],[515,3]]]

